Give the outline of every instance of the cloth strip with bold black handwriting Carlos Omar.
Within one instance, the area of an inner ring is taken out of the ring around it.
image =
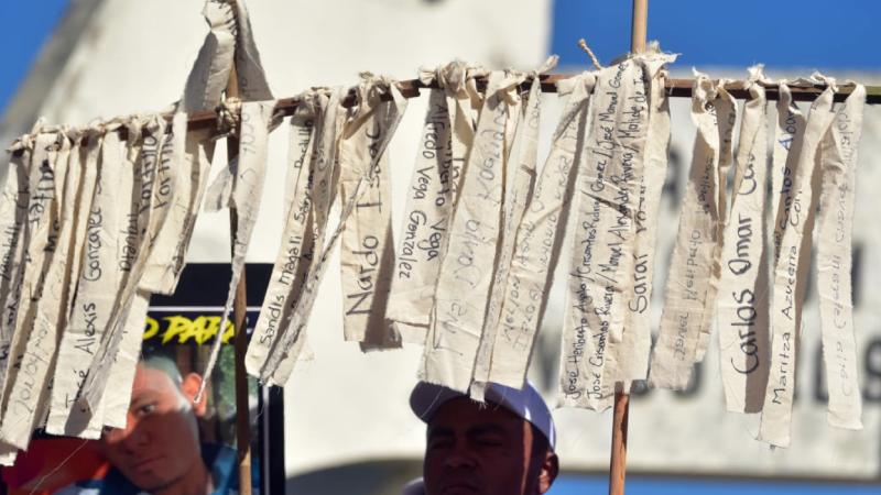
[[[752,67],[744,85],[750,99],[740,124],[731,215],[724,228],[716,314],[725,402],[728,410],[735,413],[762,409],[770,366],[764,250],[768,131],[761,70],[761,66]]]

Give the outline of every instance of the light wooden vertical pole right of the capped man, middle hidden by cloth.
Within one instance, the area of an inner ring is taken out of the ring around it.
[[[633,0],[630,30],[630,53],[645,52],[649,30],[649,0]],[[609,495],[624,495],[627,475],[627,431],[630,417],[630,395],[616,387],[612,416],[612,448],[609,460]]]

